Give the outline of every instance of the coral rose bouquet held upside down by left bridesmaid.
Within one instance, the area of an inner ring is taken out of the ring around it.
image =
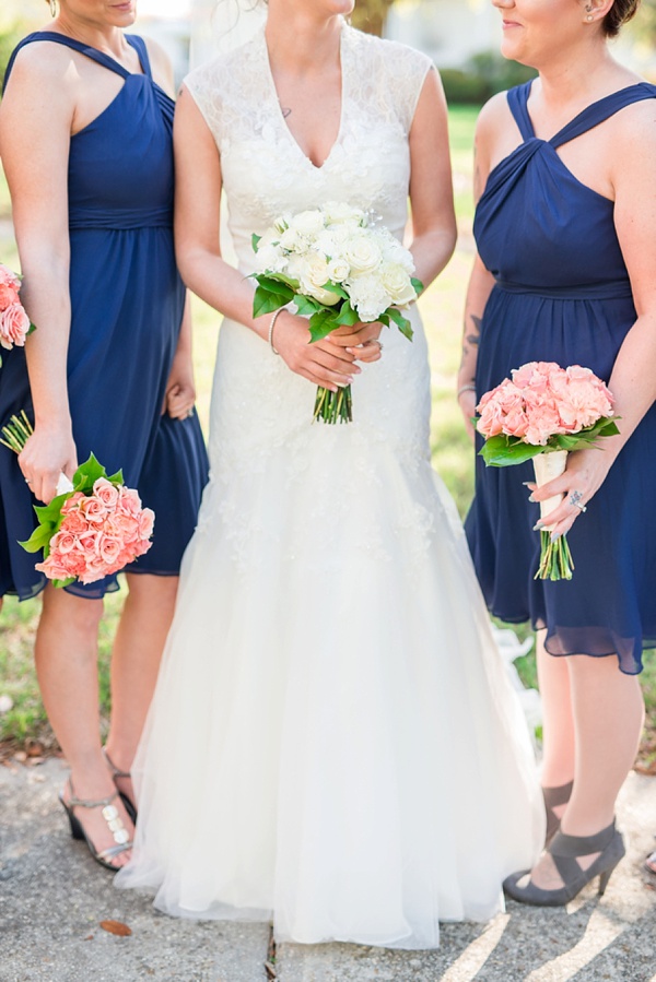
[[[20,453],[32,426],[22,413],[2,427],[2,434],[0,442]],[[61,474],[57,497],[34,510],[38,525],[21,545],[28,553],[43,549],[44,561],[36,569],[55,587],[75,580],[94,583],[133,563],[152,545],[154,512],[124,485],[120,471],[108,476],[93,453],[72,482]]]

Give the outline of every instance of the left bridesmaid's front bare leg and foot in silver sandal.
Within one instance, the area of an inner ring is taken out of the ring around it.
[[[97,629],[103,613],[99,600],[73,596],[48,585],[36,636],[35,661],[44,706],[55,735],[71,768],[77,797],[96,801],[115,791],[101,752]],[[70,789],[65,798],[70,797]],[[126,829],[130,819],[119,801],[114,802]],[[99,808],[77,808],[96,850],[115,845]],[[116,856],[124,865],[129,853]]]

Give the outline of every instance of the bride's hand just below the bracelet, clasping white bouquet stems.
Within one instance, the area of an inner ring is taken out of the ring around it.
[[[332,334],[311,343],[307,320],[285,310],[276,321],[272,340],[276,351],[292,371],[315,386],[337,392],[349,386],[361,369],[354,364],[358,356],[331,339]]]

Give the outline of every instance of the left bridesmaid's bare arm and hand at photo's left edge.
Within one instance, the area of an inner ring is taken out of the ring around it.
[[[67,179],[74,105],[59,52],[46,50],[52,47],[35,44],[20,52],[0,107],[0,154],[25,277],[22,297],[37,326],[25,344],[35,433],[20,464],[43,501],[54,497],[59,472],[71,476],[77,466],[67,389]]]

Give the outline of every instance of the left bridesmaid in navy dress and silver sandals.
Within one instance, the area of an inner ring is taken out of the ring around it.
[[[0,153],[38,326],[4,356],[0,424],[25,407],[34,436],[0,454],[0,595],[43,591],[35,656],[44,705],[71,768],[75,838],[116,869],[129,860],[129,770],[172,618],[207,457],[194,409],[190,320],[173,248],[173,80],[162,51],[124,34],[136,3],[50,0],[49,31],[7,71]],[[99,741],[97,631],[116,577],[55,590],[16,540],[93,451],[124,469],[156,513],[153,546],[126,569],[112,663],[112,725]],[[120,797],[119,797],[120,792]]]

